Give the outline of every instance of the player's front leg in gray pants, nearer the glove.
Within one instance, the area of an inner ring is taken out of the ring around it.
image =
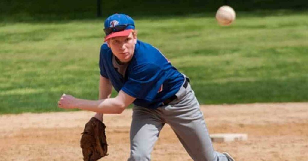
[[[128,161],[149,161],[164,122],[155,110],[134,107],[130,130],[131,154]]]

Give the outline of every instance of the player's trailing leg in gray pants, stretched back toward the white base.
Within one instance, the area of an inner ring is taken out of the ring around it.
[[[191,90],[186,95],[161,109],[164,119],[176,133],[188,154],[195,161],[228,161],[214,151],[199,103]]]

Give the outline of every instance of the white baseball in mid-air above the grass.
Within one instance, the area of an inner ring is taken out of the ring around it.
[[[235,11],[230,6],[221,6],[216,12],[216,19],[221,26],[229,26],[235,20]]]

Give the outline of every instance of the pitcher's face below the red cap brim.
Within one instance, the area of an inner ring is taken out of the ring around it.
[[[133,34],[128,36],[119,36],[111,38],[107,41],[108,46],[111,48],[112,53],[121,61],[129,62],[135,51],[135,44],[137,38]]]

